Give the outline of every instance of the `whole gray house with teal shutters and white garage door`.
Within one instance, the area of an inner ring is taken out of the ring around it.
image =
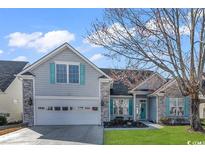
[[[146,70],[100,69],[65,43],[21,73],[24,122],[101,125],[115,117],[160,122],[190,115],[175,80]]]

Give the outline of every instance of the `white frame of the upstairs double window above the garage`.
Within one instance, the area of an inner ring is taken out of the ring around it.
[[[67,82],[66,83],[57,82],[57,69],[56,69],[57,64],[66,65],[66,74],[67,74]],[[69,82],[69,65],[78,65],[78,72],[79,72],[78,83],[70,83]],[[55,61],[55,70],[56,70],[55,71],[55,83],[57,83],[57,84],[80,85],[80,63],[79,62]]]

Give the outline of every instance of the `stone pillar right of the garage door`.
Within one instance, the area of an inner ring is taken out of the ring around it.
[[[109,102],[110,102],[110,82],[101,82],[100,84],[101,99],[101,123],[109,121]]]

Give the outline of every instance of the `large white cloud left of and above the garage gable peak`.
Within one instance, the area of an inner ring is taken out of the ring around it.
[[[62,43],[75,39],[75,35],[67,30],[49,31],[47,33],[14,32],[7,36],[10,47],[30,48],[38,52],[47,52]]]

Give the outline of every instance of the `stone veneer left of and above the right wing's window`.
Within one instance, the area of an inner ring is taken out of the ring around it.
[[[181,91],[179,90],[177,84],[173,84],[172,86],[170,86],[169,88],[167,88],[165,91],[164,96],[159,96],[159,104],[158,104],[158,120],[160,123],[160,119],[162,117],[165,117],[165,112],[166,112],[166,103],[165,103],[165,99],[166,97],[184,97],[181,93]]]

